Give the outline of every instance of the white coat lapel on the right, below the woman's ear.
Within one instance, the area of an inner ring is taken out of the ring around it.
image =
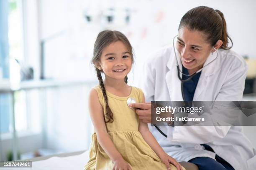
[[[218,65],[216,65],[216,60],[217,60],[216,57],[217,55],[210,54],[207,60],[205,61],[205,64],[203,66],[204,68],[202,69],[202,72],[195,90],[195,94],[193,97],[194,101],[200,100],[200,97],[202,97],[201,95],[204,94],[203,92],[207,90],[205,89],[207,87],[207,82],[209,83],[210,76],[214,75],[215,69],[216,67],[218,67]],[[210,82],[210,83],[214,83],[214,82]]]

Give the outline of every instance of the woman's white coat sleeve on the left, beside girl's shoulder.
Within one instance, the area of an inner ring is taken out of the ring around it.
[[[142,86],[141,89],[145,95],[145,101],[151,102],[154,100],[154,93],[155,93],[155,76],[156,70],[152,67],[151,60],[148,60],[143,67],[143,77],[142,77]]]

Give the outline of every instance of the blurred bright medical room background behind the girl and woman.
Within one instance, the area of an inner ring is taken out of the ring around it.
[[[143,63],[172,44],[184,13],[199,5],[224,13],[232,50],[249,65],[243,98],[256,100],[255,0],[0,0],[0,162],[87,150],[98,32],[131,41],[128,84],[139,87]],[[244,127],[254,147],[255,131]]]

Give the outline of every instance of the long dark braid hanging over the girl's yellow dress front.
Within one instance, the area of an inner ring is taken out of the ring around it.
[[[103,97],[104,97],[104,100],[106,102],[106,115],[107,115],[107,118],[108,118],[108,121],[105,120],[105,122],[113,122],[113,113],[108,105],[108,96],[106,94],[106,89],[105,89],[105,86],[104,86],[104,83],[103,83],[103,80],[102,80],[102,77],[101,77],[101,72],[99,69],[96,68],[96,71],[97,71],[97,77],[98,77],[98,80],[100,82],[100,88],[102,90],[102,93],[103,93]]]

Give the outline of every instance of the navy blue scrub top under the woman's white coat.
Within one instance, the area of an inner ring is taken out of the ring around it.
[[[182,74],[182,80],[186,80],[189,76],[187,76],[188,70],[182,65],[182,72],[186,75]],[[195,94],[195,89],[197,88],[197,83],[200,78],[201,71],[198,72],[191,80],[187,82],[183,82],[183,94],[184,94],[184,101],[193,101],[193,97]]]

